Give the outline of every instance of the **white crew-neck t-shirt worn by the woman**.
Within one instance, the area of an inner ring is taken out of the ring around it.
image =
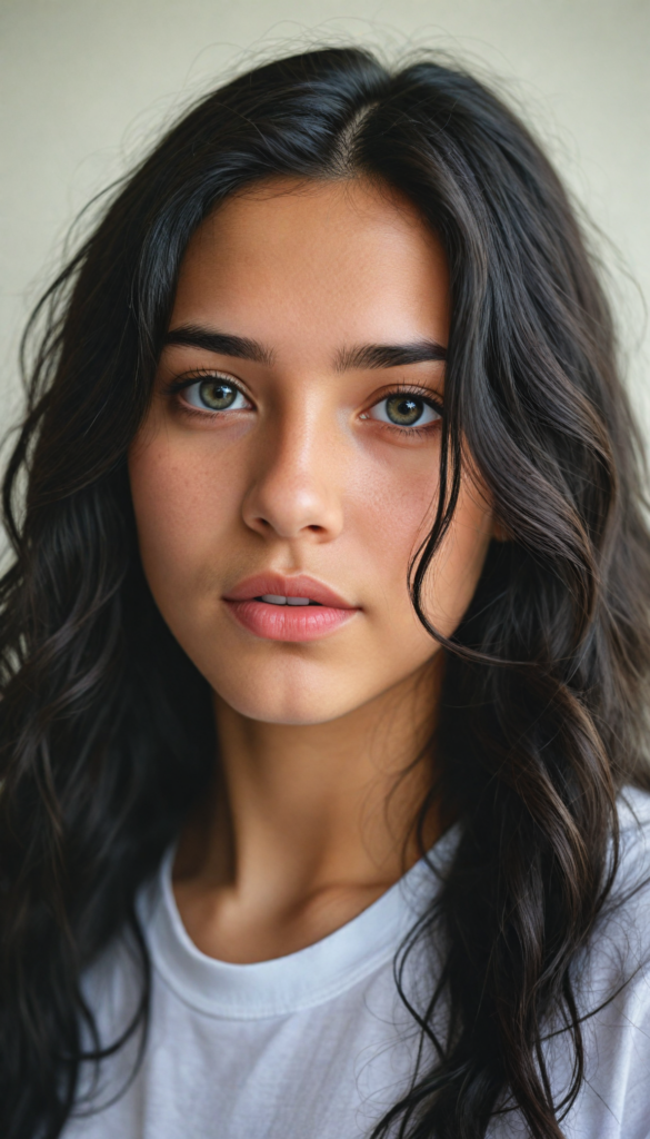
[[[650,796],[626,794],[617,890],[650,875]],[[434,847],[444,866],[456,831]],[[393,960],[435,875],[419,862],[359,917],[297,953],[255,965],[206,957],[181,923],[171,852],[140,899],[153,960],[149,1038],[104,1062],[88,1114],[83,1097],[64,1139],[363,1139],[404,1091],[418,1032],[396,992]],[[650,888],[603,918],[581,970],[594,1007],[585,1022],[587,1079],[562,1128],[570,1139],[650,1137]],[[102,1041],[134,1008],[132,958],[113,948],[87,978]],[[549,1044],[553,1087],[570,1076],[562,1038]],[[552,1050],[551,1050],[552,1049]],[[126,1087],[125,1087],[126,1084]],[[85,1092],[88,1092],[88,1085]],[[84,1092],[84,1095],[85,1095]],[[100,1105],[106,1105],[97,1111]],[[523,1136],[516,1115],[491,1136]]]

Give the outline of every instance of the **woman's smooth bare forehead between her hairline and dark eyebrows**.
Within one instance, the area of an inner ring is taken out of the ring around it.
[[[446,341],[447,269],[414,207],[369,182],[275,181],[228,199],[197,230],[173,323],[205,323],[281,350]]]

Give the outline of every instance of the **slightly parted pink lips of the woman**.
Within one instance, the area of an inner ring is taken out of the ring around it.
[[[271,605],[256,598],[274,593],[279,597],[308,597],[318,605]],[[327,637],[359,612],[328,585],[301,574],[283,577],[277,573],[247,577],[223,599],[229,612],[256,637],[265,640],[310,641]]]

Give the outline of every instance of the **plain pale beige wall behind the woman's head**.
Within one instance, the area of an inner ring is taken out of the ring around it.
[[[601,241],[650,436],[650,0],[0,0],[0,425],[68,226],[227,72],[318,42],[441,48],[534,123]]]

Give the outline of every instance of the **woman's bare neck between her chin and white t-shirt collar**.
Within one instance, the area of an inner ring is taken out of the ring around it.
[[[438,655],[328,723],[261,723],[215,698],[220,772],[183,831],[173,875],[203,952],[242,964],[295,952],[352,920],[417,861],[412,823],[431,782],[441,664]],[[426,846],[438,830],[429,818]]]

